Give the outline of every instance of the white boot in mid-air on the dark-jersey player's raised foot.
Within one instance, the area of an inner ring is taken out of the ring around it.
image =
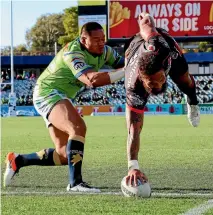
[[[187,103],[187,117],[189,120],[189,123],[193,127],[197,127],[200,123],[200,108],[198,105],[189,105]]]

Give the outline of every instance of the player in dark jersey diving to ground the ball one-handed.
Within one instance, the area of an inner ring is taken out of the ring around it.
[[[127,43],[125,52],[126,121],[128,129],[128,177],[132,184],[137,178],[146,181],[139,170],[138,152],[143,127],[143,109],[150,94],[166,89],[167,74],[187,95],[188,119],[196,127],[200,121],[196,86],[188,65],[175,40],[163,29],[155,28],[149,14],[139,16],[140,33]]]

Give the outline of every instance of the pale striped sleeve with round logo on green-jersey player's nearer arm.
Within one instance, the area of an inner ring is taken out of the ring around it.
[[[73,75],[78,78],[93,67],[85,61],[85,55],[80,51],[71,51],[64,53],[64,63],[70,68]]]

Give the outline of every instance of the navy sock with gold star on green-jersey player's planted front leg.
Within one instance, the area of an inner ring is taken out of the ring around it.
[[[84,138],[75,136],[69,139],[66,152],[69,166],[69,183],[73,187],[82,182],[81,166],[84,154]]]

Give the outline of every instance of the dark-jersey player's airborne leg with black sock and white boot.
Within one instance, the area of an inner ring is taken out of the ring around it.
[[[172,77],[178,88],[187,96],[187,110],[189,123],[197,127],[200,123],[200,110],[196,96],[196,85],[192,75],[186,72],[179,77]]]

